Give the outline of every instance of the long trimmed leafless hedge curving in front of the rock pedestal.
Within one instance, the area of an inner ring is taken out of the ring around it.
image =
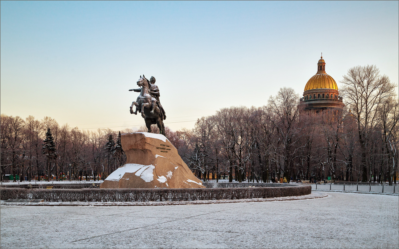
[[[82,188],[26,189],[0,188],[1,200],[16,198],[44,199],[47,202],[158,202],[192,200],[235,200],[301,196],[311,193],[311,186],[255,188]]]

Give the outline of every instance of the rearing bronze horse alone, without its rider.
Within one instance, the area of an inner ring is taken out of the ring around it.
[[[151,125],[156,124],[158,125],[159,133],[165,136],[164,121],[161,117],[158,105],[156,104],[156,98],[153,98],[150,94],[150,86],[144,75],[140,75],[140,79],[137,80],[137,85],[141,87],[141,92],[137,100],[132,102],[130,113],[137,115],[137,111],[139,111],[146,122],[148,132],[151,132]],[[154,110],[150,110],[151,102],[154,102]],[[133,106],[136,106],[136,111],[134,112]]]

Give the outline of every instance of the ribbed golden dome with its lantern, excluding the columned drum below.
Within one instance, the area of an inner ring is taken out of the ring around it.
[[[308,80],[306,83],[305,91],[319,88],[329,88],[338,90],[337,83],[335,80],[325,71],[326,63],[323,60],[323,57],[320,57],[320,60],[317,63],[317,73],[312,78]]]

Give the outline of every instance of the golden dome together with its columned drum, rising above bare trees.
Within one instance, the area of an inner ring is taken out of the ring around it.
[[[316,113],[326,109],[342,110],[344,108],[337,83],[334,78],[326,74],[326,63],[323,57],[320,57],[317,63],[317,73],[306,83],[299,105],[302,112]]]

